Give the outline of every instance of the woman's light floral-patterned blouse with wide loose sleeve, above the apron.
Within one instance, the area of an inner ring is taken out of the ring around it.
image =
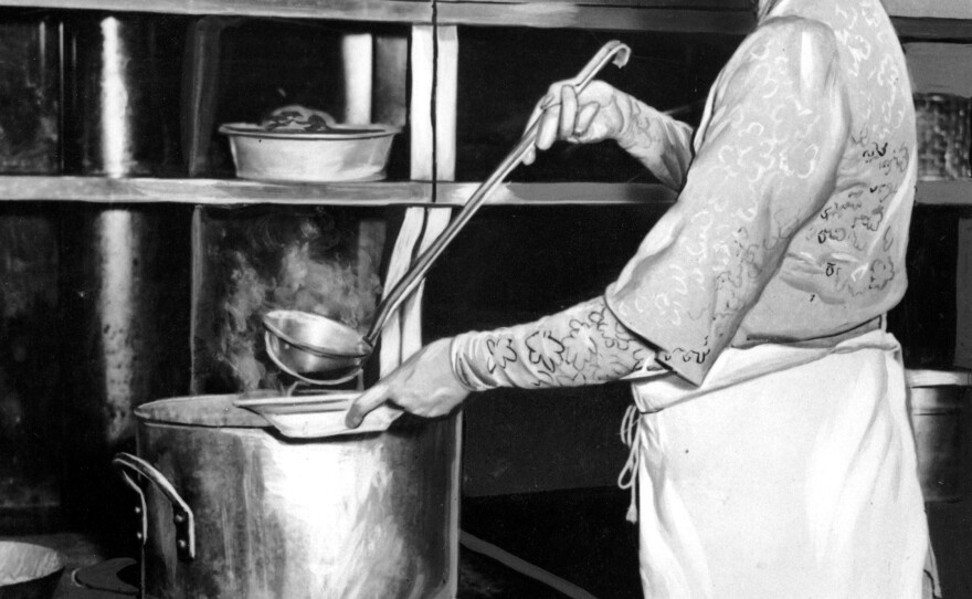
[[[694,154],[605,296],[661,362],[698,383],[730,345],[838,335],[900,301],[915,109],[878,0],[764,1]]]

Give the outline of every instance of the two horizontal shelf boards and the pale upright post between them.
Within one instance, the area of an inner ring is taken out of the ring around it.
[[[910,39],[972,39],[972,8],[959,2],[887,0],[899,33]],[[233,179],[106,179],[0,176],[0,201],[186,202],[200,204],[332,203],[372,206],[459,204],[471,183],[452,183],[455,160],[455,81],[459,25],[666,31],[741,35],[753,25],[748,0],[608,0],[517,2],[494,0],[0,0],[0,7],[170,13],[207,17],[326,19],[404,23],[426,40],[411,57],[413,165],[411,181],[320,186],[263,185]],[[433,40],[436,38],[437,41]],[[442,43],[440,43],[442,42]],[[422,64],[422,62],[425,64]],[[433,64],[437,61],[437,64]],[[435,71],[433,74],[433,70]],[[439,88],[433,90],[433,81]],[[424,86],[424,88],[421,88]],[[433,94],[435,102],[433,102]],[[450,102],[452,101],[452,102]],[[431,105],[435,115],[430,117]],[[415,120],[418,119],[418,120]],[[423,122],[424,120],[424,122]],[[433,124],[434,120],[434,124]],[[452,129],[452,130],[450,130]],[[435,140],[433,143],[433,139]],[[434,151],[432,146],[435,145]],[[432,154],[436,165],[432,165]],[[439,181],[436,186],[432,181]],[[584,198],[587,195],[587,199]],[[520,183],[505,186],[490,204],[624,204],[674,197],[646,183]],[[972,182],[921,182],[922,204],[972,203]]]

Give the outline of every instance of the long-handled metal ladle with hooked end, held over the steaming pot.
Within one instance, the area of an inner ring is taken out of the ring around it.
[[[578,93],[584,90],[609,62],[619,67],[627,64],[631,49],[613,40],[588,62],[570,83],[577,87]],[[551,98],[543,106],[549,108],[559,102]],[[361,335],[352,327],[338,320],[309,313],[295,313],[292,311],[275,311],[264,316],[264,325],[267,328],[266,341],[267,354],[285,372],[314,385],[335,385],[353,378],[362,368],[364,361],[374,349],[374,343],[381,334],[388,318],[411,295],[424,279],[432,263],[442,254],[445,246],[456,237],[459,230],[473,218],[496,187],[516,168],[524,156],[533,147],[537,140],[540,119],[536,118],[527,132],[520,138],[517,146],[510,151],[503,162],[493,171],[488,179],[480,185],[473,196],[466,201],[463,209],[450,221],[442,233],[415,259],[415,263],[408,273],[392,287],[389,294],[378,306],[371,328]],[[308,340],[306,334],[310,333],[314,340]],[[278,337],[281,343],[275,343]],[[289,347],[285,347],[289,346]],[[295,353],[307,353],[303,360],[293,360]],[[287,365],[287,361],[300,361],[296,368]],[[302,372],[303,371],[303,372]],[[304,372],[336,372],[331,379],[311,379]]]

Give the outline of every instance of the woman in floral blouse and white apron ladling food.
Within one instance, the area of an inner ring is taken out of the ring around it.
[[[904,54],[878,0],[758,15],[696,132],[604,83],[552,86],[538,149],[615,139],[677,203],[603,297],[435,341],[348,422],[632,379],[646,597],[917,599],[928,530],[884,330],[916,181]]]

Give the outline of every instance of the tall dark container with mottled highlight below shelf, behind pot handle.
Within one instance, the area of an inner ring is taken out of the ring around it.
[[[135,446],[137,406],[189,386],[191,210],[59,210],[57,340],[67,358],[60,383],[72,390],[60,402],[71,423],[64,428],[70,451],[60,456],[62,505],[70,522],[119,542],[130,538],[117,518],[128,497],[113,476],[112,456]]]

